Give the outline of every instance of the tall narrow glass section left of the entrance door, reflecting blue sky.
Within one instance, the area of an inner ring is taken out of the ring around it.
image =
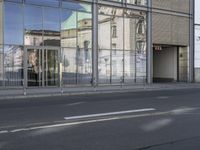
[[[22,45],[23,7],[21,4],[4,2],[3,85],[5,86],[23,86]]]

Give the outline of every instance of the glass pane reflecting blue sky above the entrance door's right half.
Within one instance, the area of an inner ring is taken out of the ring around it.
[[[44,8],[44,45],[60,46],[60,11]]]

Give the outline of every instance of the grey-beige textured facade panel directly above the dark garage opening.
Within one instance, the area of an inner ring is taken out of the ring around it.
[[[153,13],[153,43],[189,44],[189,18]]]

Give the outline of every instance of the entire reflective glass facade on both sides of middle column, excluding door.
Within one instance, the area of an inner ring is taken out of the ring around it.
[[[143,2],[127,1],[145,5]],[[41,49],[41,55],[44,55],[42,51],[47,47],[60,48],[62,83],[91,83],[91,4],[79,1],[5,0],[2,6],[0,0],[0,11],[3,10],[0,13],[0,85],[23,86],[24,49],[27,47]],[[104,6],[100,6],[98,11],[99,82],[129,83],[145,78],[146,14]],[[34,59],[37,60],[36,57]]]

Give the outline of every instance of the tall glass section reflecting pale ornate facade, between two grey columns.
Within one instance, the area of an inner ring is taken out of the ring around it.
[[[99,83],[145,82],[146,14],[99,7]]]

